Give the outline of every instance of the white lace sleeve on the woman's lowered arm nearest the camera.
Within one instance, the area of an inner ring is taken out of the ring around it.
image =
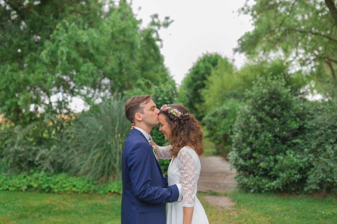
[[[196,196],[196,167],[191,153],[182,148],[177,156],[179,159],[180,182],[183,186],[183,206],[194,207]]]

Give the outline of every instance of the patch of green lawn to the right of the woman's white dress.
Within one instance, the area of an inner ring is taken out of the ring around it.
[[[230,210],[211,206],[199,193],[210,223],[235,224],[336,224],[337,199],[280,194],[229,193],[237,202]]]

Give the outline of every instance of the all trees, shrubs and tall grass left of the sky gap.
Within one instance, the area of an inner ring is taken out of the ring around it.
[[[0,51],[7,52],[0,54],[1,173],[120,178],[126,99],[151,93],[160,105],[176,98],[158,35],[172,21],[151,18],[141,28],[126,1],[0,4]],[[90,109],[72,112],[74,97]],[[158,130],[152,136],[164,144]]]

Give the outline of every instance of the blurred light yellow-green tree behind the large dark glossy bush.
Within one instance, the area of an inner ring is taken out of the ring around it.
[[[292,94],[299,96],[306,85],[304,75],[301,71],[289,69],[289,64],[283,60],[260,61],[258,64],[247,63],[237,70],[231,61],[224,58],[207,78],[206,86],[201,90],[204,103],[198,108],[208,114],[229,99],[233,98],[238,102],[244,100],[245,92],[252,87],[258,76],[282,79]]]

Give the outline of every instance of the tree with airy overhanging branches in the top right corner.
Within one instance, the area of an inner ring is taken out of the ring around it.
[[[336,85],[337,13],[333,0],[255,0],[241,12],[254,29],[238,41],[238,52],[253,60],[282,55],[310,68],[314,79]]]

